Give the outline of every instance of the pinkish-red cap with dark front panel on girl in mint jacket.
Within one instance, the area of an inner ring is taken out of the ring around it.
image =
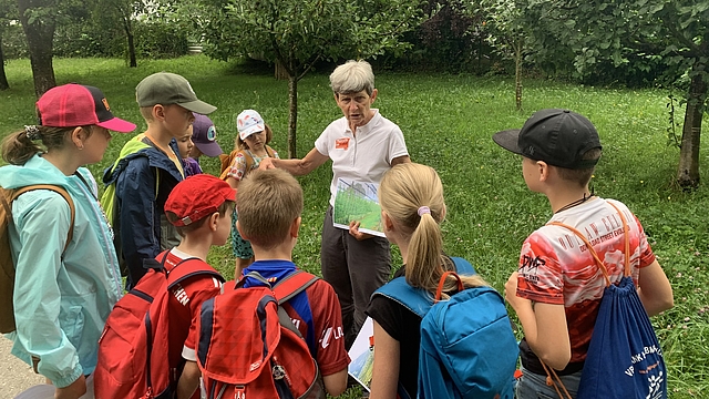
[[[52,127],[97,125],[129,133],[135,124],[113,116],[105,95],[94,86],[69,83],[48,90],[37,102],[40,124]]]

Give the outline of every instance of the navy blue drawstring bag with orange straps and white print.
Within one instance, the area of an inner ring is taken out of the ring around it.
[[[625,273],[617,285],[610,284],[605,265],[580,232],[549,223],[576,234],[606,278],[576,399],[667,399],[662,350],[630,277],[628,224],[623,212],[609,204],[618,212],[625,233]]]

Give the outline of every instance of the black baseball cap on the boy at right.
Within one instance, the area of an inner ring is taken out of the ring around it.
[[[547,109],[535,112],[522,129],[497,132],[495,143],[515,154],[549,165],[584,170],[598,160],[583,160],[593,149],[602,149],[598,132],[585,116],[568,110]]]

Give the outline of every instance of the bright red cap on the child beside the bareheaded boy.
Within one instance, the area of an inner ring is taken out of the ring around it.
[[[187,226],[217,212],[225,201],[236,202],[236,190],[208,174],[188,176],[167,196],[165,211],[177,215],[175,226]]]

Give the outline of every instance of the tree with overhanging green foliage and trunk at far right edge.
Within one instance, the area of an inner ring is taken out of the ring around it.
[[[675,78],[685,74],[687,108],[677,181],[699,184],[699,137],[707,105],[709,0],[530,0],[526,27],[540,42],[561,42],[574,65],[589,73],[610,61],[640,69],[661,62]]]

